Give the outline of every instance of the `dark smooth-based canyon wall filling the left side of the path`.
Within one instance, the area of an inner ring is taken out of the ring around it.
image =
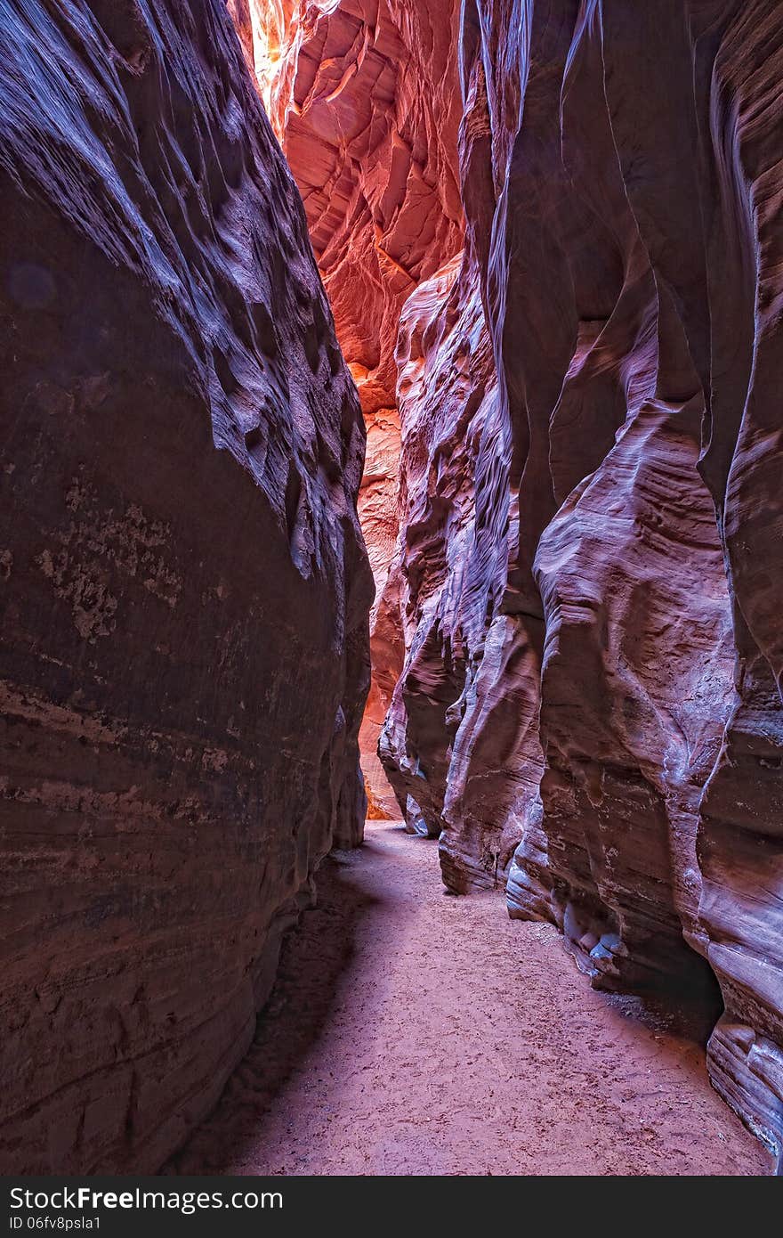
[[[365,433],[225,6],[0,33],[1,1160],[153,1170],[361,837]]]

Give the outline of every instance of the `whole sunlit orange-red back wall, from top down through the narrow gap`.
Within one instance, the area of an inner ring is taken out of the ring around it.
[[[398,370],[403,306],[461,249],[456,45],[450,0],[230,0],[297,180],[338,338],[367,426],[359,515],[376,586],[361,728],[370,813],[398,816],[376,756],[402,669]]]

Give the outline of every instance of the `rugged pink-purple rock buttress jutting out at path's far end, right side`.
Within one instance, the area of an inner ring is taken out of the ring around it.
[[[381,754],[401,802],[440,836],[447,884],[464,891],[502,883],[531,790],[507,777],[506,745],[537,745],[536,728],[521,728],[524,688],[507,673],[534,652],[507,615],[486,626],[502,597],[508,504],[506,493],[496,514],[476,499],[508,459],[508,437],[469,254],[411,297],[397,355],[408,636]]]

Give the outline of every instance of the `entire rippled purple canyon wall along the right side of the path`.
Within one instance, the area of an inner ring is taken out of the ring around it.
[[[455,891],[725,1013],[783,1145],[774,0],[464,0],[465,248],[398,342],[381,738]]]

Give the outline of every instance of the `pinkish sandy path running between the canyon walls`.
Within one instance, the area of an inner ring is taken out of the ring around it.
[[[772,1171],[684,1016],[594,993],[502,898],[444,896],[437,844],[369,825],[319,891],[254,1046],[168,1172]]]

